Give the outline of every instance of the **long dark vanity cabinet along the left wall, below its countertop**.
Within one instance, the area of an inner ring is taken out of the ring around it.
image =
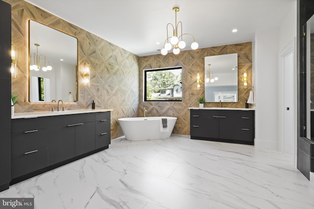
[[[108,148],[110,112],[11,120],[11,184]]]

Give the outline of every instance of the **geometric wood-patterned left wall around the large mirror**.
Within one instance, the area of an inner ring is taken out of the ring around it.
[[[68,23],[24,0],[3,0],[12,6],[12,44],[18,46],[18,75],[12,78],[12,93],[20,103],[15,112],[48,111],[54,103],[28,101],[28,20],[35,20],[78,39],[78,72],[85,63],[91,65],[90,86],[82,85],[78,73],[78,102],[64,103],[66,109],[113,109],[111,112],[111,139],[122,136],[120,117],[137,115],[138,108],[138,56],[115,46],[98,36]]]

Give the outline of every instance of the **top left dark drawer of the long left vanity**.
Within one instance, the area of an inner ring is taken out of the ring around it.
[[[11,133],[48,128],[47,117],[19,118],[11,120]]]

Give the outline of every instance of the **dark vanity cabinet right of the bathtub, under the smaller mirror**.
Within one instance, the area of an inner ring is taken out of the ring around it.
[[[254,144],[254,110],[191,109],[191,139]]]

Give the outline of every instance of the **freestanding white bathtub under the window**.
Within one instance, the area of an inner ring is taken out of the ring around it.
[[[161,118],[167,118],[167,128],[162,127]],[[126,139],[137,141],[169,138],[177,117],[125,117],[118,120]]]

